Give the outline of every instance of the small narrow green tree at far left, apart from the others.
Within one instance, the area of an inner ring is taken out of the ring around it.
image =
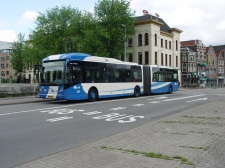
[[[18,35],[18,41],[14,42],[12,45],[12,54],[10,58],[11,65],[14,70],[16,70],[19,75],[19,80],[21,81],[22,72],[24,69],[24,57],[23,57],[23,51],[24,51],[24,35],[19,34]]]

